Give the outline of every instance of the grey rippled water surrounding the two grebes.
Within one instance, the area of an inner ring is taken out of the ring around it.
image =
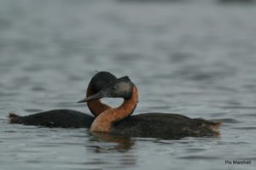
[[[255,169],[255,16],[251,3],[1,1],[0,169]],[[135,114],[221,119],[221,135],[143,139],[9,124],[9,111],[89,113],[76,101],[96,71],[131,77]],[[236,159],[252,163],[225,164]]]

